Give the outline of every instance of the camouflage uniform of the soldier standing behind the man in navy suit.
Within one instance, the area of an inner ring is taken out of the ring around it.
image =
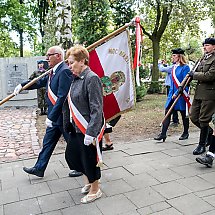
[[[34,78],[39,77],[43,73],[45,73],[46,70],[37,70],[32,73],[29,80],[33,80]],[[38,102],[38,108],[40,109],[40,114],[46,114],[47,111],[47,102],[46,102],[46,88],[42,87],[40,89],[37,89],[37,102]]]

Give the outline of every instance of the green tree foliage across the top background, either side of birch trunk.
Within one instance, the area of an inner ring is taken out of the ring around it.
[[[144,64],[153,62],[153,81],[158,78],[155,62],[160,56],[170,59],[172,48],[186,49],[188,58],[194,61],[201,55],[200,20],[211,17],[215,26],[214,0],[73,0],[71,3],[72,41],[86,46],[130,22],[137,11],[146,15],[141,23],[145,35],[142,61]],[[5,43],[0,39],[1,55],[17,54],[17,46],[6,31],[27,33],[33,54],[44,54],[44,50],[56,44],[55,12],[55,0],[1,0],[0,30],[5,38]],[[44,35],[42,44],[35,39],[37,29]],[[8,45],[4,47],[6,41]],[[132,37],[131,42],[134,41]]]

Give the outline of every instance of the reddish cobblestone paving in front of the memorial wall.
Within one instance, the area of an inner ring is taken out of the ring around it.
[[[36,108],[0,109],[0,162],[38,155]]]

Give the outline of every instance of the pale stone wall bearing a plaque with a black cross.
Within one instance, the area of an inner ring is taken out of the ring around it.
[[[28,80],[41,59],[44,57],[0,58],[0,100],[8,97],[16,85]],[[23,91],[0,108],[5,106],[37,106],[36,90]]]

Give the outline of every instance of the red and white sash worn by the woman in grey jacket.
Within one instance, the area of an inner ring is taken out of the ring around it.
[[[88,122],[86,121],[86,119],[81,115],[81,113],[78,111],[78,109],[73,104],[71,97],[70,97],[70,90],[68,93],[68,104],[69,104],[69,110],[70,110],[70,122],[72,123],[72,119],[73,119],[76,126],[80,129],[82,134],[86,134]],[[96,146],[96,151],[97,151],[97,165],[96,166],[98,166],[98,167],[102,167],[102,165],[103,165],[102,154],[100,151],[99,142],[103,137],[104,130],[105,130],[105,120],[104,120],[104,124],[101,128],[99,135],[95,138],[95,146]]]

